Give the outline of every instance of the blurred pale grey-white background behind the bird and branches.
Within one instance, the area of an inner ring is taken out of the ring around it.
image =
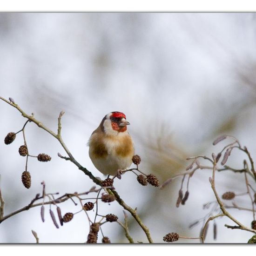
[[[194,155],[218,153],[217,136],[236,136],[256,156],[256,15],[255,13],[0,13],[0,96],[12,97],[24,111],[48,128],[57,131],[62,118],[62,137],[74,157],[95,176],[101,175],[88,157],[88,138],[101,119],[121,111],[141,156],[140,169],[155,174],[161,183],[185,172]],[[5,214],[27,205],[41,192],[84,192],[94,183],[74,164],[57,156],[65,155],[61,145],[35,124],[26,127],[32,155],[46,153],[52,161],[29,158],[30,189],[21,183],[26,158],[18,154],[23,144],[17,135],[10,145],[3,143],[8,132],[17,132],[25,123],[20,113],[0,101],[0,186]],[[228,140],[230,142],[231,140]],[[229,166],[243,167],[245,155],[234,152]],[[207,164],[207,162],[204,162]],[[121,198],[148,226],[155,243],[169,232],[198,237],[203,219],[215,200],[210,189],[210,170],[197,170],[189,182],[189,199],[176,208],[182,177],[165,189],[142,187],[133,173],[115,181]],[[251,180],[252,184],[253,181]],[[184,183],[186,187],[186,180]],[[244,175],[216,174],[216,189],[246,191]],[[185,192],[186,189],[184,189]],[[237,205],[250,207],[249,197],[237,197]],[[231,202],[227,202],[231,205]],[[62,213],[77,212],[72,202],[60,205]],[[13,216],[0,224],[0,243],[34,243],[31,229],[40,243],[84,243],[88,219],[81,212],[56,229],[46,206],[46,221],[40,208]],[[229,209],[250,227],[251,212]],[[99,213],[124,216],[117,202],[101,203]],[[89,212],[94,218],[95,212]],[[147,243],[138,224],[129,216],[135,242]],[[251,233],[231,230],[228,218],[216,220],[217,238],[210,222],[206,243],[247,243]],[[112,243],[127,243],[123,229],[113,222],[102,226]],[[101,242],[101,235],[98,242]],[[177,243],[199,243],[180,239]]]

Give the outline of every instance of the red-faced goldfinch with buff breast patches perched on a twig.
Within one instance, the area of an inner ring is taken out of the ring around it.
[[[128,125],[122,112],[113,111],[103,117],[90,136],[89,157],[102,174],[115,176],[118,170],[131,166],[135,149]]]

